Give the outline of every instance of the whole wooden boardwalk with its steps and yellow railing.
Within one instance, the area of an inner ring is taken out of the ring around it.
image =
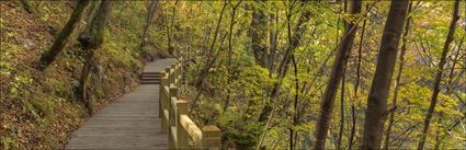
[[[220,149],[220,129],[196,125],[178,96],[181,61],[159,59],[145,71],[139,88],[92,116],[65,149]]]

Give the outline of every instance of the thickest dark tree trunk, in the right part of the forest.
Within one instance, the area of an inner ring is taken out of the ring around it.
[[[391,1],[367,99],[362,149],[380,149],[387,99],[409,1]]]

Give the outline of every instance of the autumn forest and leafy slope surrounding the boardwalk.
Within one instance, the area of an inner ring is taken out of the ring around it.
[[[466,2],[1,1],[0,149],[62,149],[180,58],[223,148],[466,149]]]

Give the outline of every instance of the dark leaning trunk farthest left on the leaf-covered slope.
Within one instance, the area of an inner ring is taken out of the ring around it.
[[[50,49],[41,56],[39,69],[46,69],[55,60],[57,55],[64,49],[69,35],[71,35],[72,31],[75,31],[75,27],[79,23],[79,20],[81,19],[82,13],[84,12],[84,9],[89,2],[89,0],[78,1],[77,7],[71,13],[71,16],[69,18],[65,27],[61,30],[60,34],[58,34]]]

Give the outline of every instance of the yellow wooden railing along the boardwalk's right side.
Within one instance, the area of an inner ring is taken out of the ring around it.
[[[161,131],[168,134],[168,148],[220,149],[220,129],[216,126],[205,126],[201,129],[187,115],[187,102],[178,96],[182,85],[181,66],[181,61],[177,60],[160,72],[159,117],[162,119]]]

